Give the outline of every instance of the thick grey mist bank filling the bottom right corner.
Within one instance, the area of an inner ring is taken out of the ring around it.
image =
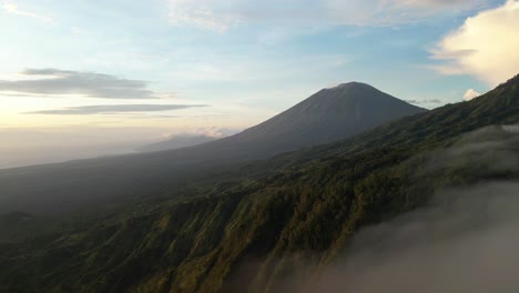
[[[296,292],[518,292],[518,194],[506,182],[445,192],[360,232],[340,264]]]

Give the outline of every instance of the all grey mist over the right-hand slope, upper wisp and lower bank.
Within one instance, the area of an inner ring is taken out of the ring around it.
[[[419,175],[472,168],[517,172],[517,127],[485,128],[431,154]],[[519,292],[519,182],[480,180],[438,192],[427,206],[357,233],[344,255],[275,292]],[[316,257],[318,259],[318,257]]]

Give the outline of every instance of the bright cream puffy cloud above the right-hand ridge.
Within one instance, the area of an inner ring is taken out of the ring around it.
[[[519,1],[468,18],[431,51],[444,74],[471,74],[497,85],[519,72]]]

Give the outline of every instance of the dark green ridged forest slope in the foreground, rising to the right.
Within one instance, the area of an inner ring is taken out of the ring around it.
[[[2,245],[0,289],[274,292],[294,267],[313,263],[312,280],[360,228],[421,206],[437,190],[518,180],[516,164],[489,168],[496,154],[519,155],[518,133],[495,127],[518,122],[519,77],[471,102],[248,166],[277,170],[265,178]]]

